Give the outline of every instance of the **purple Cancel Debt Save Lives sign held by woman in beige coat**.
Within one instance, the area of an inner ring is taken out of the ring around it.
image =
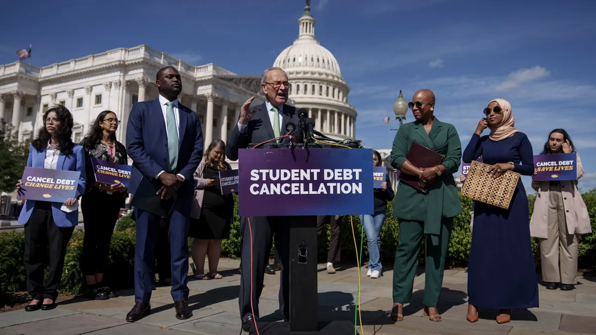
[[[578,179],[578,162],[575,153],[534,156],[536,175],[533,181],[561,181]]]

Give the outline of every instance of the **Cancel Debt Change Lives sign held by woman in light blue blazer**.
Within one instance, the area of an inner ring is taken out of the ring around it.
[[[75,198],[79,185],[79,171],[52,170],[25,167],[23,185],[17,197],[27,200],[42,200],[63,203]]]

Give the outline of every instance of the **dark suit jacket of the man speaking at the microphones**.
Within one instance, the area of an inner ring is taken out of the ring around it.
[[[250,107],[254,108],[253,106]],[[294,123],[296,128],[298,126],[298,113],[296,107],[285,105],[283,107],[284,116],[281,120],[281,135],[284,135],[285,125],[289,122]],[[293,135],[296,138],[297,143],[304,142],[302,132],[297,132]],[[269,111],[265,107],[265,103],[257,106],[257,112],[253,118],[249,121],[246,131],[241,133],[238,131],[238,120],[234,130],[229,134],[228,142],[225,146],[225,153],[229,160],[238,160],[238,149],[246,149],[249,143],[260,143],[268,141],[269,139],[275,138],[273,135],[273,126],[271,125],[271,119],[269,119]]]

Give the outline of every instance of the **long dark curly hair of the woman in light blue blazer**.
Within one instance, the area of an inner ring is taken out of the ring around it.
[[[49,135],[48,129],[45,128],[45,120],[48,117],[48,114],[52,111],[56,113],[56,118],[60,121],[60,126],[55,134],[56,149],[64,155],[70,154],[72,153],[74,145],[70,138],[73,135],[73,125],[75,121],[68,108],[62,105],[52,106],[45,111],[43,119],[44,124],[39,128],[37,137],[31,140],[31,144],[38,152],[43,151],[44,148],[48,146],[51,136]]]

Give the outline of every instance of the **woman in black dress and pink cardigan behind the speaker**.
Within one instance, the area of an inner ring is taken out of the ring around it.
[[[194,172],[197,181],[195,197],[191,207],[188,237],[193,237],[191,256],[197,267],[195,277],[200,280],[221,279],[218,273],[222,240],[229,237],[234,216],[232,194],[222,194],[219,171],[231,170],[225,161],[225,143],[216,139],[209,144],[203,160]],[[209,272],[204,273],[205,256],[209,259]]]

